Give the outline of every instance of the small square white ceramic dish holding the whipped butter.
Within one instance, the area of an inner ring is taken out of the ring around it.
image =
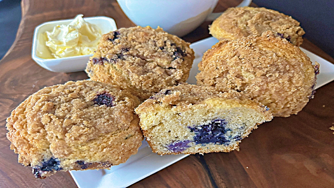
[[[89,23],[97,25],[101,29],[102,34],[106,34],[117,29],[115,20],[113,18],[106,16],[96,16],[83,19]],[[31,57],[44,69],[52,72],[63,73],[83,71],[86,69],[89,58],[93,56],[93,54],[55,59],[51,55],[51,51],[45,45],[47,40],[45,35],[43,35],[45,31],[51,32],[54,26],[61,24],[68,25],[72,20],[73,19],[45,22],[35,28],[32,41]]]

